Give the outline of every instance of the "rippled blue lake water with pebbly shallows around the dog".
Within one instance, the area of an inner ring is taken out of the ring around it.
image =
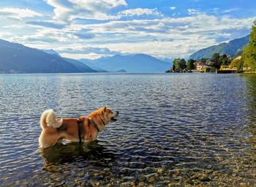
[[[0,186],[255,186],[256,76],[0,75]],[[40,150],[39,117],[120,112]]]

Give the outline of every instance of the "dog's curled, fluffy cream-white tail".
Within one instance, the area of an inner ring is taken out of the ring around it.
[[[52,109],[42,112],[40,118],[40,126],[42,129],[47,128],[47,126],[52,126],[54,129],[57,129],[62,125],[62,123],[62,118],[60,120],[57,120],[55,117],[55,112]]]

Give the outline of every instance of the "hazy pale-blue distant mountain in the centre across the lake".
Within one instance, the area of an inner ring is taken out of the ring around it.
[[[108,72],[165,72],[170,69],[170,63],[145,54],[102,57],[91,61],[91,64]]]

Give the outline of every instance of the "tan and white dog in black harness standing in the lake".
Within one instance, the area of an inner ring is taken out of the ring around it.
[[[111,121],[117,121],[118,111],[113,112],[108,106],[91,112],[87,117],[56,119],[55,112],[45,110],[40,118],[42,132],[39,147],[49,148],[66,139],[72,142],[91,142],[97,139],[100,131]]]

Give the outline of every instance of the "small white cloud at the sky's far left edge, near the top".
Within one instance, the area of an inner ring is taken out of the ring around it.
[[[31,18],[43,16],[39,12],[35,12],[31,9],[20,9],[20,8],[2,8],[0,9],[0,18],[13,18],[22,20],[23,18]]]

